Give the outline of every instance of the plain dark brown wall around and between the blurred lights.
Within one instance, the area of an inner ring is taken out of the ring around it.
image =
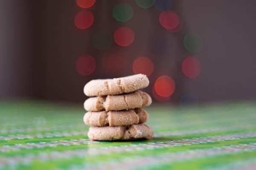
[[[134,8],[134,16],[127,23],[117,23],[112,17],[113,7],[120,2]],[[170,101],[177,102],[186,93],[198,96],[201,102],[256,99],[256,2],[175,2],[173,10],[184,21],[183,30],[177,34],[169,34],[160,26],[160,11],[154,7],[140,8],[135,1],[96,0],[90,9],[95,22],[87,30],[79,30],[73,23],[76,13],[82,10],[75,0],[1,1],[0,98],[81,102],[85,99],[82,89],[87,81],[133,74],[134,59],[146,56],[154,62],[149,93],[157,77],[169,75],[177,87]],[[108,29],[113,33],[119,26],[129,26],[139,33],[132,45],[120,48],[113,42],[104,51],[92,47],[91,36],[95,31]],[[183,37],[187,33],[201,35],[201,53],[184,50]],[[96,70],[90,76],[76,73],[76,59],[83,54],[96,59]],[[102,61],[112,54],[122,57],[125,65],[109,73]],[[182,74],[181,62],[189,56],[201,62],[198,78],[187,79]]]

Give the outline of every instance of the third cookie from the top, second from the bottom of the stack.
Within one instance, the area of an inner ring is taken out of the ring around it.
[[[84,114],[84,123],[91,126],[123,126],[145,123],[148,113],[141,108],[124,111],[98,111]]]

